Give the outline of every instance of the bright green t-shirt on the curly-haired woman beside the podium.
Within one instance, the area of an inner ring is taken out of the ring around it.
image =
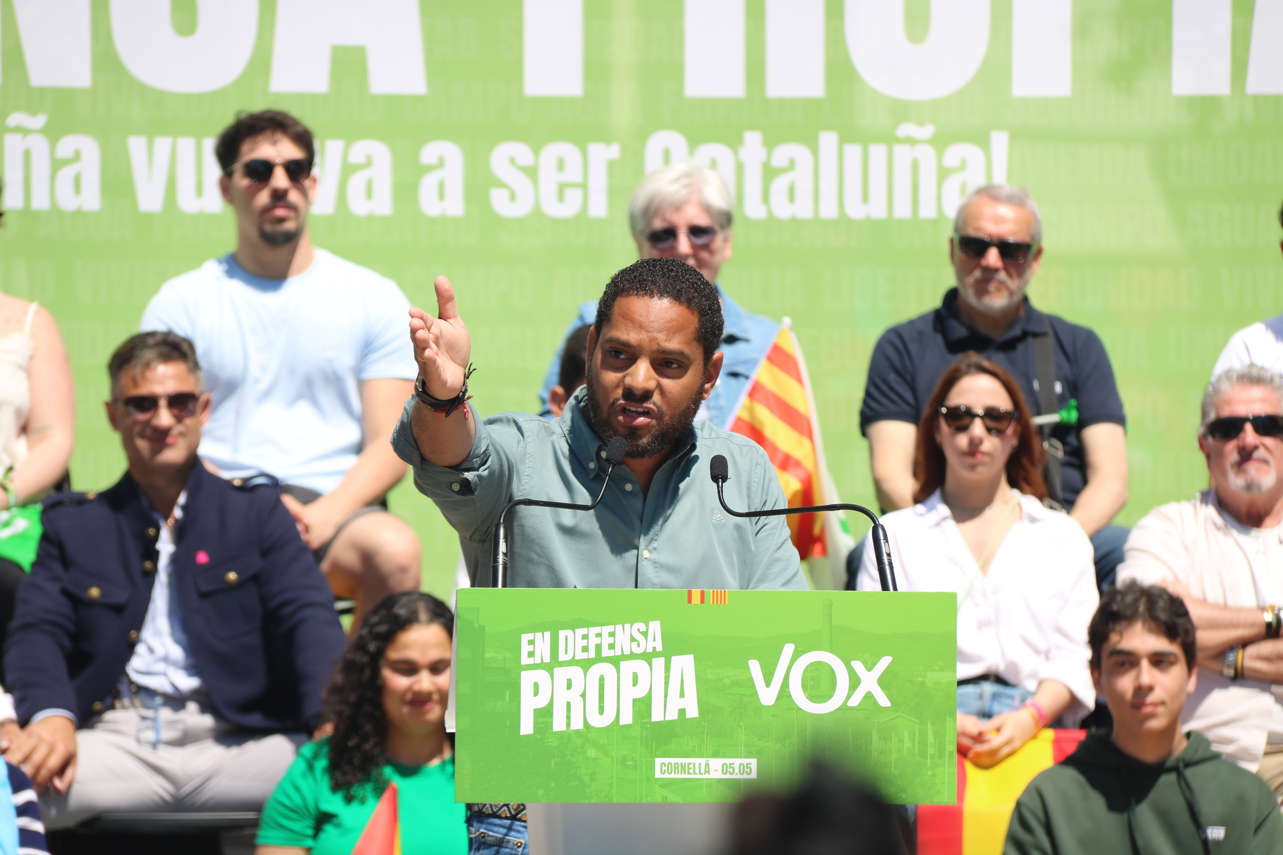
[[[259,846],[299,846],[310,855],[348,855],[361,840],[378,796],[350,804],[330,790],[330,740],[299,749],[259,818]],[[454,801],[454,759],[431,767],[384,765],[396,784],[404,855],[467,855],[466,808]]]

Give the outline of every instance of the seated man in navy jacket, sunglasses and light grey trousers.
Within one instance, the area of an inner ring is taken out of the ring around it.
[[[53,828],[258,810],[321,723],[344,645],[332,595],[275,481],[200,465],[191,342],[140,333],[108,370],[128,472],[45,505],[5,646],[24,724],[6,759]]]

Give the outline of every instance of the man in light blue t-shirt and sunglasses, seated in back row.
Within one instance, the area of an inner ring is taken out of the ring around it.
[[[414,391],[409,301],[391,279],[312,245],[312,133],[287,113],[242,115],[216,147],[236,251],[166,282],[142,329],[190,338],[213,395],[200,444],[226,478],[267,472],[359,624],[417,590],[420,545],[384,496],[404,476],[387,437]],[[355,626],[355,624],[354,624]]]

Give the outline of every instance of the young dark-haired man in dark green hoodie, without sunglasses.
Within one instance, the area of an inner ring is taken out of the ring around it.
[[[1157,586],[1107,591],[1088,629],[1114,733],[1092,733],[1016,802],[1005,855],[1277,855],[1283,819],[1264,781],[1180,732],[1194,624]]]

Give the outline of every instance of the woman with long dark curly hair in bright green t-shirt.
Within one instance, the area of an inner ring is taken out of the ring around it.
[[[445,732],[453,633],[429,594],[370,610],[330,682],[334,733],[299,749],[263,808],[257,855],[468,851]]]

